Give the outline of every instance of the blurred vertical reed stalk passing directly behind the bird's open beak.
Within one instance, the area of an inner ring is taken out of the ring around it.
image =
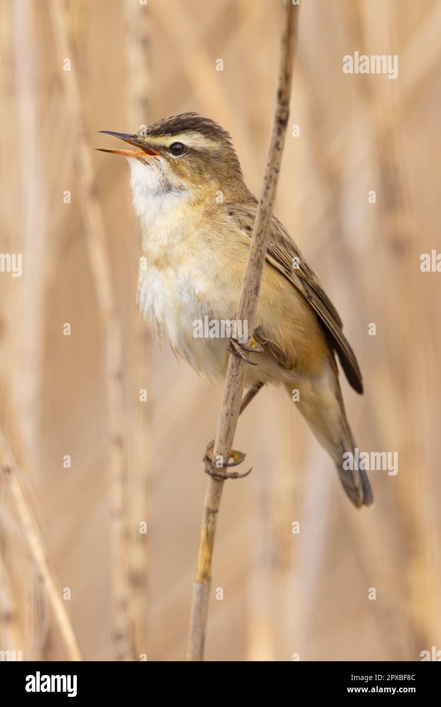
[[[133,132],[148,124],[151,95],[150,8],[126,0],[125,50],[127,61],[128,125]],[[135,128],[136,126],[136,128]],[[147,591],[148,591],[148,518],[151,491],[151,402],[140,402],[141,389],[148,390],[150,380],[148,330],[136,300],[136,274],[139,267],[139,228],[131,234],[131,268],[129,319],[129,370],[131,372],[129,401],[129,619],[131,640],[136,658],[147,654]],[[140,532],[140,522],[146,522],[147,534]]]

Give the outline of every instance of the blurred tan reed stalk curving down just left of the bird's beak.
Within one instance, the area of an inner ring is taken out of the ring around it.
[[[90,267],[95,280],[100,323],[105,347],[105,371],[108,406],[109,465],[112,519],[113,631],[114,658],[130,660],[129,637],[129,556],[127,501],[127,433],[124,424],[122,335],[112,288],[110,261],[105,239],[105,226],[97,185],[93,173],[91,147],[79,90],[78,61],[69,36],[69,5],[52,0],[51,14],[54,38],[66,100],[71,117],[71,141],[75,144],[78,189],[81,194],[83,220],[86,226]],[[71,71],[62,71],[64,59],[71,59]]]

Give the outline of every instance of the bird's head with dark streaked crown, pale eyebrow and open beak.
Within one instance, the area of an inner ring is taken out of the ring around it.
[[[215,199],[222,192],[224,201],[243,198],[247,192],[230,135],[197,113],[172,115],[137,134],[101,132],[136,148],[102,150],[128,158],[134,199],[136,190],[186,193],[195,199]]]

